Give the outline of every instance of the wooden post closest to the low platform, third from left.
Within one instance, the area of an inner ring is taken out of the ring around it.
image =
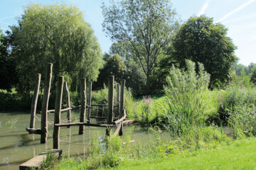
[[[55,98],[55,114],[54,114],[54,128],[53,128],[53,149],[59,149],[60,127],[55,124],[60,123],[60,111],[63,97],[63,81],[64,77],[59,76],[57,81],[57,91]]]

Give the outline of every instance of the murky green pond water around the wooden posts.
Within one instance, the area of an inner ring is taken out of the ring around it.
[[[73,118],[78,118],[79,113],[73,113]],[[37,115],[36,128],[41,127],[41,115]],[[54,115],[49,115],[48,131],[53,134]],[[62,115],[65,118],[65,113]],[[28,134],[30,114],[28,113],[0,113],[0,169],[18,169],[18,166],[28,159],[35,157],[46,149],[53,149],[52,137],[48,136],[46,144],[40,143],[40,135]],[[92,120],[95,121],[95,120]],[[114,130],[112,130],[114,131]],[[136,142],[148,141],[152,137],[151,132],[139,126],[124,128],[123,137],[129,135]],[[92,140],[105,138],[105,128],[85,126],[84,135],[78,135],[78,126],[60,128],[60,149],[63,156],[81,156],[88,152]],[[75,144],[76,143],[76,144]],[[81,144],[81,145],[77,145]]]

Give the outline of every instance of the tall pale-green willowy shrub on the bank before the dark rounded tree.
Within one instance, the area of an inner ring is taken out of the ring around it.
[[[210,75],[204,71],[203,64],[198,64],[198,74],[195,63],[187,60],[186,65],[186,71],[174,66],[171,68],[164,88],[166,128],[178,136],[193,125],[203,125],[206,120],[201,94],[208,88]]]

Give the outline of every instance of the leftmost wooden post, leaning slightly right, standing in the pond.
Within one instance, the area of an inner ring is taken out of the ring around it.
[[[32,99],[32,103],[31,103],[31,122],[29,125],[29,128],[31,128],[31,129],[35,128],[36,106],[37,106],[37,101],[38,101],[40,81],[41,81],[41,74],[37,74],[36,86],[34,89],[33,99]]]

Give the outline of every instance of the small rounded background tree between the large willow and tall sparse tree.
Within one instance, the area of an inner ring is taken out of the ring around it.
[[[95,86],[103,87],[103,84],[107,84],[108,77],[114,76],[114,81],[117,81],[121,84],[121,80],[124,79],[125,65],[119,55],[107,55],[105,54],[104,58],[105,65],[100,69],[99,77]]]

